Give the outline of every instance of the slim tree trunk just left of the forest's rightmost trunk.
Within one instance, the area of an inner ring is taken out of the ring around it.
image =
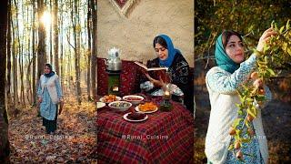
[[[88,13],[87,13],[87,31],[88,31],[88,66],[87,66],[87,94],[88,101],[92,100],[91,98],[91,25],[92,25],[92,17],[91,17],[91,3],[88,2]]]

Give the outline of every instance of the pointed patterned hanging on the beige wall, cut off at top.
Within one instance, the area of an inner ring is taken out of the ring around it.
[[[109,0],[119,15],[128,17],[139,0]]]

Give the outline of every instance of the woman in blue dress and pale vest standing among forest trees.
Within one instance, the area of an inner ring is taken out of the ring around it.
[[[45,74],[40,77],[37,89],[40,115],[43,117],[43,126],[47,134],[52,134],[56,129],[57,105],[63,102],[63,94],[59,77],[55,74],[50,64],[45,64]]]

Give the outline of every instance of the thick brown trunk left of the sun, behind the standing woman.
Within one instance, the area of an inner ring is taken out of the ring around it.
[[[44,0],[37,0],[37,15],[38,22],[44,12]],[[39,77],[41,76],[46,63],[45,55],[45,26],[40,23],[38,26],[38,47],[37,47],[37,82],[39,83]]]

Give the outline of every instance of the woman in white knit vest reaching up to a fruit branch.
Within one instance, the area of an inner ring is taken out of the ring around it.
[[[272,35],[276,35],[276,32],[272,28],[267,29],[260,37],[256,49],[262,51],[265,42]],[[206,157],[208,163],[239,163],[240,161],[236,159],[238,154],[228,151],[230,143],[234,141],[229,135],[229,129],[238,116],[236,103],[240,103],[240,100],[236,91],[247,82],[250,74],[256,69],[258,55],[253,54],[245,60],[242,37],[234,31],[224,31],[216,40],[215,56],[217,67],[212,67],[206,74],[206,87],[211,104],[206,134]],[[260,79],[256,79],[254,84],[264,87],[266,100],[271,99],[269,88]],[[256,107],[258,107],[257,118],[251,125],[255,135],[251,142],[243,144],[240,150],[244,154],[252,155],[243,157],[246,163],[267,163],[268,149],[262,125],[260,109],[262,107],[257,104]],[[243,130],[242,136],[246,135],[245,132],[246,130]]]

